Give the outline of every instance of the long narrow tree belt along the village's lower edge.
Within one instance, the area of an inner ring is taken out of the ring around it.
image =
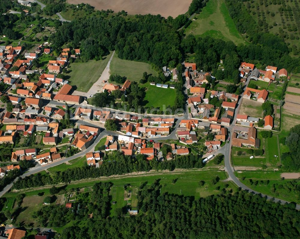
[[[58,183],[68,183],[88,178],[98,178],[101,176],[110,176],[114,174],[125,174],[131,172],[148,172],[154,170],[170,170],[175,168],[202,168],[202,160],[200,156],[193,154],[187,156],[177,156],[175,160],[158,162],[156,160],[147,162],[146,156],[138,154],[135,158],[123,155],[119,151],[104,157],[103,164],[99,168],[95,167],[82,167],[82,168],[69,168],[63,172],[56,172],[54,176],[50,174],[41,175],[32,174],[25,178],[19,178],[13,185],[15,189],[40,187],[43,185],[51,185]]]

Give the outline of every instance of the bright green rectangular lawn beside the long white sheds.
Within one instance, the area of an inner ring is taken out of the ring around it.
[[[160,88],[157,86],[151,86],[149,82],[145,84],[139,84],[140,87],[145,87],[146,95],[144,98],[144,106],[158,108],[163,110],[164,105],[167,109],[168,106],[173,106],[176,99],[175,89],[170,87],[167,89]]]

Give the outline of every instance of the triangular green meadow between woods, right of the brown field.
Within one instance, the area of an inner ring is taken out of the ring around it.
[[[233,20],[230,18],[223,0],[210,0],[203,7],[196,20],[184,30],[185,34],[196,36],[212,36],[223,40],[233,41],[236,45],[245,43],[239,34]]]

